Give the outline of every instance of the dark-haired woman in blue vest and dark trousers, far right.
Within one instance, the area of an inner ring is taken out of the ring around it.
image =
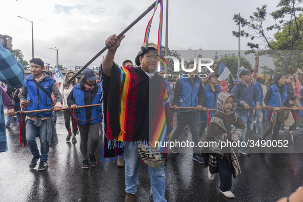
[[[273,81],[274,84],[272,85],[272,87],[268,89],[265,95],[264,103],[268,107],[269,106],[285,107],[286,100],[289,98],[288,97],[289,88],[285,86],[286,84],[285,76],[283,74],[276,74],[274,76]],[[265,112],[265,116],[267,117],[268,115],[269,115],[269,111],[267,110]],[[282,123],[281,120],[279,120],[277,117],[274,126],[271,126],[269,129],[267,129],[259,139],[264,140],[268,135],[272,134],[272,140],[277,140],[281,123]],[[271,147],[270,149],[279,152],[282,151],[281,149],[279,149],[279,147]]]

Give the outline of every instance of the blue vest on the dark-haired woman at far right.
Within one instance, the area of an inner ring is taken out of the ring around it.
[[[287,99],[287,86],[284,86],[284,92],[283,95],[281,94],[280,90],[278,89],[277,85],[273,85],[272,87],[272,95],[270,96],[269,99],[269,105],[271,107],[280,107],[280,105],[282,105],[283,107],[285,107],[285,101]],[[281,102],[280,102],[280,98],[281,98]],[[265,116],[268,116],[269,111],[266,110],[265,111]]]

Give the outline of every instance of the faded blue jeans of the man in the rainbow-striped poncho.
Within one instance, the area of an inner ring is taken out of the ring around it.
[[[138,150],[137,142],[127,142],[124,146],[125,155],[125,191],[126,193],[135,194],[138,187],[138,169],[142,161]],[[163,165],[157,169],[148,166],[149,179],[152,186],[154,201],[167,201],[165,199],[165,170]]]

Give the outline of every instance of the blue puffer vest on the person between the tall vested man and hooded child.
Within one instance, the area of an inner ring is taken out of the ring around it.
[[[217,100],[218,100],[218,95],[221,92],[221,89],[218,85],[215,85],[215,93],[212,91],[212,89],[209,87],[209,84],[207,84],[204,87],[205,90],[205,103],[204,107],[207,109],[217,109]],[[216,96],[215,96],[216,94]],[[207,122],[207,113],[206,112],[199,112],[200,120]],[[215,111],[209,111],[210,117],[213,116]]]

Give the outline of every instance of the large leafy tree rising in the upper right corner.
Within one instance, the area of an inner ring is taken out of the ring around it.
[[[275,20],[275,24],[265,27],[264,23],[267,21],[267,5],[261,8],[256,8],[248,19],[241,17],[239,14],[234,14],[233,20],[237,25],[247,27],[250,32],[241,30],[239,32],[233,31],[236,37],[245,36],[249,37],[252,41],[255,38],[261,38],[261,44],[254,44],[248,42],[247,46],[251,49],[265,50],[261,54],[275,55],[280,59],[283,65],[283,73],[287,74],[290,66],[290,61],[295,50],[300,48],[303,41],[303,21],[301,13],[303,8],[300,7],[303,0],[281,0],[276,11],[270,13],[270,16]],[[275,40],[272,40],[272,30],[277,30]],[[280,32],[280,33],[279,33]],[[282,37],[284,36],[284,37]],[[274,51],[275,50],[275,51]],[[288,54],[276,50],[290,50]]]

